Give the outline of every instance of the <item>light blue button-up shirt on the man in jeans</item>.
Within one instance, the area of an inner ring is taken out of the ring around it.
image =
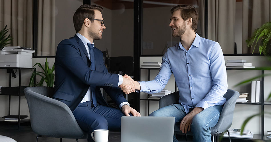
[[[179,89],[179,103],[185,112],[189,108],[204,109],[223,105],[223,95],[228,88],[225,60],[219,43],[196,37],[187,51],[181,41],[167,49],[162,59],[162,66],[154,80],[139,82],[140,91],[158,93],[174,74]]]

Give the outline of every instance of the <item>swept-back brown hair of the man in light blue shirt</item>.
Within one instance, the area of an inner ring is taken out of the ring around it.
[[[181,11],[181,17],[183,20],[187,20],[188,18],[192,18],[192,30],[195,32],[197,31],[198,21],[199,21],[199,15],[197,10],[193,5],[177,5],[173,7],[170,12],[171,14],[177,10]]]

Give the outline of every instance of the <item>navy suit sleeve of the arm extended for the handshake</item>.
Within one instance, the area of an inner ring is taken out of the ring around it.
[[[70,40],[64,40],[59,43],[56,52],[56,62],[66,70],[70,71],[79,80],[88,85],[104,86],[105,83],[111,83],[112,86],[118,86],[118,74],[98,72],[88,68],[86,62],[80,54],[84,54]]]

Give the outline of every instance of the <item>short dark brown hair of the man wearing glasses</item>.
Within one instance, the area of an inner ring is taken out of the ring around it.
[[[84,4],[81,5],[73,15],[73,24],[75,32],[79,32],[86,18],[94,19],[94,9],[103,12],[103,8],[97,5]]]

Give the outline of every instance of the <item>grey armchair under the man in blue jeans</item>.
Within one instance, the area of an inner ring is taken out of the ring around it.
[[[236,103],[237,98],[239,97],[239,93],[237,91],[228,89],[228,91],[223,97],[225,97],[227,101],[223,106],[223,109],[221,111],[217,124],[213,128],[211,128],[211,135],[213,135],[213,141],[215,141],[214,139],[215,135],[223,133],[224,131],[228,131],[228,128],[230,128],[232,124],[235,103]],[[178,101],[179,101],[179,91],[162,97],[159,100],[159,108],[162,108],[164,106],[168,106],[174,103],[176,104],[178,103]],[[174,127],[174,131],[177,134],[182,133],[180,131],[180,126],[177,124]],[[229,133],[229,141],[230,141],[230,132],[228,131],[228,133]],[[187,134],[192,134],[192,132],[187,132]],[[186,141],[186,135],[185,135],[185,141]]]

